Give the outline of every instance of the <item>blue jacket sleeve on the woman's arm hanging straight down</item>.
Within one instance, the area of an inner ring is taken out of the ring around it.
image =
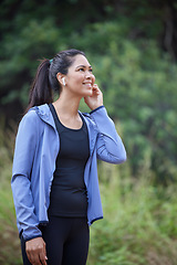
[[[41,236],[30,181],[38,138],[37,114],[31,110],[19,125],[11,180],[18,229],[24,240]]]

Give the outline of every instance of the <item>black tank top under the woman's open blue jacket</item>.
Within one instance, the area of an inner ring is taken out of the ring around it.
[[[55,108],[49,104],[60,137],[49,215],[85,218],[87,193],[84,183],[85,163],[90,156],[88,132],[82,118],[81,129],[70,129],[61,124]]]

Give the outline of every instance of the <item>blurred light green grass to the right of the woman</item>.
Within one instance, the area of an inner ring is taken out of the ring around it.
[[[91,229],[88,264],[175,265],[176,188],[124,179],[119,166],[100,170],[105,219]]]

